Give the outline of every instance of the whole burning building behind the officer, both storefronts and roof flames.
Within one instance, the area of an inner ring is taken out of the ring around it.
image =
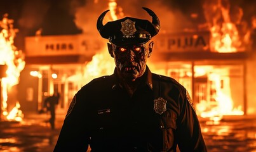
[[[227,2],[204,4],[205,24],[179,32],[161,29],[153,39],[154,51],[149,60],[152,72],[173,77],[184,85],[201,117],[256,114],[255,26],[244,28],[243,10],[239,8],[236,18],[231,18]],[[116,9],[122,16],[121,9]],[[191,18],[197,15],[191,14]],[[24,110],[40,110],[44,98],[58,91],[58,109],[66,111],[81,86],[113,72],[114,61],[107,53],[106,43],[91,31],[26,37],[27,65],[20,83]]]

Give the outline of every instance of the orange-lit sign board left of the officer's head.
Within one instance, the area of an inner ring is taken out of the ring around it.
[[[26,56],[91,56],[104,46],[100,37],[83,34],[25,37]]]

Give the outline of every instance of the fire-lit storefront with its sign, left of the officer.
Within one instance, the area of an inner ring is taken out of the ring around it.
[[[20,105],[24,111],[41,110],[44,99],[60,93],[58,110],[66,111],[84,83],[84,69],[104,41],[86,35],[26,37],[25,69],[20,75]]]

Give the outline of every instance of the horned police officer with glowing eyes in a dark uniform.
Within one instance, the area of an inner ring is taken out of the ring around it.
[[[116,68],[75,94],[54,151],[206,151],[186,89],[146,65],[160,23],[143,9],[152,22],[125,17],[103,25],[108,10],[99,16]]]

